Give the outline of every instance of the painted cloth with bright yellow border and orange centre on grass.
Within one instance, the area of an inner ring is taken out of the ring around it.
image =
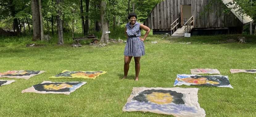
[[[62,73],[49,78],[84,78],[96,79],[97,76],[105,74],[106,71],[68,71],[64,70]]]

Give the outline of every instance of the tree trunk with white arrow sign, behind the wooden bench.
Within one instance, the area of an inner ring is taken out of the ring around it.
[[[129,0],[130,1],[130,0]],[[108,22],[105,19],[105,15],[106,15],[106,2],[104,0],[101,0],[101,30],[102,30],[102,34],[101,34],[101,42],[105,42],[108,43],[109,42],[109,34],[105,34],[106,31],[108,30]]]

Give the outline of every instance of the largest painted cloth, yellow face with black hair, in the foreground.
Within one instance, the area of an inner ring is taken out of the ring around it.
[[[143,111],[177,117],[204,117],[197,97],[198,88],[133,87],[123,111]]]

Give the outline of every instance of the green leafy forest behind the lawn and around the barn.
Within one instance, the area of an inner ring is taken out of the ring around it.
[[[43,40],[45,34],[49,34],[53,38],[57,37],[58,42],[50,43],[60,45],[64,44],[64,40],[72,42],[73,37],[86,37],[88,34],[97,36],[101,42],[108,42],[109,38],[126,40],[124,27],[129,22],[128,14],[130,12],[137,13],[137,21],[143,23],[160,1],[0,0],[0,27],[3,30],[14,31],[13,34],[10,34],[11,36],[22,36],[24,38],[21,40],[27,42]],[[222,0],[210,1],[222,2]],[[254,20],[256,19],[254,17],[256,15],[256,0],[234,0],[230,3],[233,2],[241,6],[239,13],[246,13]],[[205,10],[210,9],[205,8]],[[230,13],[230,9],[226,9],[224,12]],[[105,31],[111,33],[101,33]],[[244,33],[250,33],[250,25],[244,27]],[[17,39],[11,38],[2,38],[2,40],[17,42]]]

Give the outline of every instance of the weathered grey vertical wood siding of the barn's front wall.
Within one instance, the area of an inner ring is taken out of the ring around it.
[[[242,26],[242,22],[235,18],[233,13],[222,13],[219,8],[223,3],[214,2],[211,9],[213,12],[206,11],[204,16],[200,13],[211,0],[165,0],[157,4],[151,11],[144,25],[150,29],[170,29],[171,23],[180,17],[180,5],[191,5],[191,14],[194,16],[194,28],[213,28],[213,27],[235,27]],[[226,7],[227,8],[227,7]]]

